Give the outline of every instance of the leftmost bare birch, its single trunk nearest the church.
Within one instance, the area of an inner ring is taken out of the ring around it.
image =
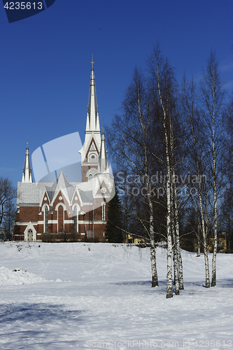
[[[150,103],[144,78],[139,69],[134,70],[132,83],[125,92],[122,103],[122,116],[116,116],[108,135],[109,146],[118,164],[123,164],[129,176],[136,177],[134,187],[122,183],[121,190],[127,190],[127,195],[136,197],[137,202],[148,208],[148,219],[135,215],[142,227],[148,232],[150,239],[150,260],[152,270],[152,287],[158,286],[155,257],[155,230],[153,220],[153,193],[151,191],[150,136],[152,118]],[[137,190],[135,190],[137,189]],[[136,214],[134,212],[134,214]]]

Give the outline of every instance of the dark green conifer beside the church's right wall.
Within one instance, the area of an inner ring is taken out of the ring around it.
[[[108,203],[108,220],[106,223],[106,239],[109,243],[122,243],[122,211],[118,190],[115,190],[115,196]]]

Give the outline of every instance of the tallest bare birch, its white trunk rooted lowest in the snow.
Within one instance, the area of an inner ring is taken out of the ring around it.
[[[174,218],[177,217],[177,208],[174,207],[174,201],[177,197],[174,196],[174,183],[172,181],[174,176],[174,113],[176,113],[176,81],[174,78],[174,69],[171,68],[167,59],[164,59],[160,45],[157,44],[153,49],[152,54],[148,59],[148,68],[150,74],[150,83],[153,86],[153,102],[155,104],[155,114],[157,115],[157,108],[160,109],[160,123],[162,125],[162,139],[164,144],[164,155],[157,155],[153,153],[155,158],[158,158],[164,165],[165,172],[165,192],[166,192],[166,230],[167,230],[167,298],[173,297],[173,283],[172,283],[172,254],[173,254],[173,239],[174,245],[179,247],[178,235],[175,235],[175,227],[178,229],[178,222],[174,225]],[[175,209],[175,210],[174,210]],[[178,232],[176,232],[178,233]],[[177,251],[177,250],[176,250]],[[178,248],[178,252],[180,250]],[[177,270],[177,255],[175,255],[175,273],[176,273],[176,293],[178,294],[179,281]],[[182,267],[182,265],[180,266]]]

